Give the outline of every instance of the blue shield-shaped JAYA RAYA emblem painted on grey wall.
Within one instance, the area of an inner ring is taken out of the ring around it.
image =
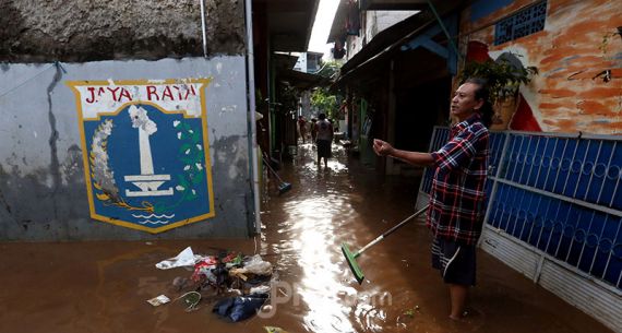
[[[91,217],[162,233],[212,217],[207,79],[70,81]]]

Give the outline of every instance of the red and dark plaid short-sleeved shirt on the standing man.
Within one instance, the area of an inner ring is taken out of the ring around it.
[[[483,223],[488,129],[474,114],[455,124],[450,138],[432,153],[435,171],[427,225],[434,237],[475,245]]]

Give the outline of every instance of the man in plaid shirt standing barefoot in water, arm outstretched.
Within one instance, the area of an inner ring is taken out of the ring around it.
[[[434,168],[427,226],[432,230],[432,266],[450,287],[450,318],[465,313],[468,288],[475,285],[475,246],[483,223],[485,185],[488,168],[488,129],[492,107],[486,81],[469,79],[455,92],[451,115],[458,122],[450,141],[433,153],[394,148],[373,141],[380,156]]]

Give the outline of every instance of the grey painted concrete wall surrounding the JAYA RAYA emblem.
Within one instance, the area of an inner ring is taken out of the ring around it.
[[[212,79],[205,88],[204,130],[215,216],[157,235],[92,219],[83,163],[88,158],[83,159],[76,97],[67,82],[188,78]],[[242,56],[1,64],[0,239],[247,236],[253,212],[247,110]]]

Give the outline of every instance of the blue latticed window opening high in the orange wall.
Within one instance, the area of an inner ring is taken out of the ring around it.
[[[547,19],[547,0],[538,1],[509,17],[503,19],[494,26],[494,45],[518,39],[545,28]]]

